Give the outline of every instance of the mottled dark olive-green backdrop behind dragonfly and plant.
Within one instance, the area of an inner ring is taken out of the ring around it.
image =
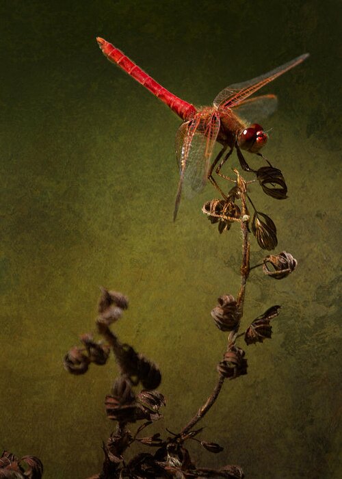
[[[202,215],[211,186],[172,222],[180,121],[95,37],[195,105],[308,51],[264,89],[279,97],[264,153],[289,198],[251,187],[298,269],[283,281],[252,272],[245,320],[282,305],[272,340],[246,347],[248,375],[202,422],[224,452],[189,448],[198,465],[239,464],[246,478],[341,477],[341,1],[2,0],[0,18],[0,448],[40,457],[46,479],[101,468],[116,366],[62,367],[94,331],[99,285],[129,296],[116,331],[163,372],[168,404],[151,432],[192,417],[226,346],[210,311],[237,294],[239,228],[220,236]],[[265,256],[254,241],[251,254]]]

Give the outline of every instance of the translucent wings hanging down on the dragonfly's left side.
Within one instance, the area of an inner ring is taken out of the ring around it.
[[[179,186],[174,207],[174,219],[181,193],[187,196],[200,192],[207,182],[210,159],[220,130],[220,116],[215,110],[208,114],[198,112],[192,120],[183,123],[176,135],[176,157],[179,164]]]

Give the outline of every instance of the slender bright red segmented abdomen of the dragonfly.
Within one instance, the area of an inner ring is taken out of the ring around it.
[[[127,55],[124,55],[122,51],[114,47],[111,43],[100,37],[96,38],[96,40],[108,60],[120,66],[122,70],[131,75],[138,83],[141,83],[147,90],[157,96],[159,100],[168,105],[182,120],[189,120],[189,118],[194,116],[196,113],[194,105],[187,103],[187,101],[180,99],[179,96],[163,88],[160,83],[150,77],[148,73],[144,72],[142,68],[132,62]]]

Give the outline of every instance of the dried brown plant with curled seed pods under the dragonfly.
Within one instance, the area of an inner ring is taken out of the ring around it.
[[[293,272],[297,261],[283,251],[278,255],[266,256],[262,263],[250,266],[250,233],[264,250],[273,250],[278,239],[276,225],[269,216],[254,207],[248,187],[259,181],[265,194],[281,200],[287,197],[287,185],[282,172],[270,164],[257,171],[252,170],[256,175],[256,179],[252,181],[246,181],[237,170],[234,171],[236,180],[222,176],[234,181],[235,186],[227,195],[222,195],[223,199],[213,199],[205,203],[202,211],[212,224],[218,224],[220,234],[229,231],[234,223],[239,224],[242,233],[241,284],[236,297],[222,294],[218,298],[218,305],[211,310],[215,325],[222,333],[228,333],[226,350],[217,365],[218,378],[211,395],[183,429],[179,432],[167,430],[169,434],[166,437],[161,437],[159,433],[142,435],[145,428],[161,418],[161,408],[166,405],[166,399],[157,391],[161,383],[161,372],[157,365],[128,344],[122,344],[113,332],[114,323],[120,320],[129,305],[123,294],[101,288],[96,328],[105,342],[95,341],[92,335],[83,334],[80,337],[82,346],[74,346],[64,358],[64,367],[68,372],[84,374],[91,364],[104,365],[112,351],[119,369],[119,376],[111,392],[105,397],[105,412],[108,419],[117,423],[116,430],[103,444],[102,471],[90,479],[244,477],[244,472],[237,465],[226,465],[219,469],[198,467],[185,448],[185,443],[192,440],[213,454],[222,452],[223,448],[218,443],[202,439],[203,428],[195,426],[215,403],[224,381],[237,379],[248,373],[246,352],[238,342],[244,340],[246,346],[249,346],[270,339],[271,321],[280,312],[279,305],[271,306],[241,331],[248,276],[251,270],[262,266],[267,276],[283,279]],[[219,191],[222,192],[220,188]],[[250,203],[254,210],[252,218],[247,203]],[[140,426],[133,432],[130,425],[139,422]],[[140,452],[127,460],[127,450],[134,442],[155,448],[155,452]]]

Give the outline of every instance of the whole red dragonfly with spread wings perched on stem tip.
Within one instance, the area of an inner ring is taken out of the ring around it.
[[[96,40],[108,60],[144,85],[183,120],[176,134],[176,157],[181,177],[174,206],[174,220],[183,186],[188,194],[200,192],[209,179],[226,197],[213,178],[213,170],[221,160],[215,171],[227,178],[220,170],[234,148],[241,168],[254,171],[248,166],[241,150],[262,156],[259,151],[267,142],[267,133],[258,123],[250,125],[242,118],[265,118],[276,109],[277,99],[274,94],[254,96],[252,99],[248,97],[308,57],[308,53],[305,53],[260,77],[228,86],[216,96],[213,106],[196,108],[163,88],[114,45],[100,37]],[[215,142],[222,144],[222,150],[211,161]]]

